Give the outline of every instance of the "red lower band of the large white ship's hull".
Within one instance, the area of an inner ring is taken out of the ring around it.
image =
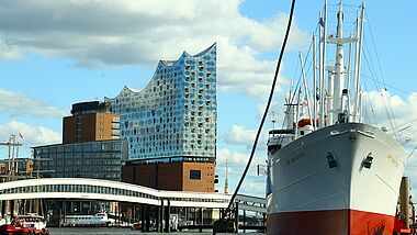
[[[392,235],[395,217],[357,210],[284,212],[268,215],[269,235]]]

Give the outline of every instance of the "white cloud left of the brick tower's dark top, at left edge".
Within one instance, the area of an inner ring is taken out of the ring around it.
[[[61,118],[66,111],[58,110],[34,98],[27,97],[23,92],[8,91],[0,89],[0,112],[12,116],[33,115],[33,116],[54,116]]]

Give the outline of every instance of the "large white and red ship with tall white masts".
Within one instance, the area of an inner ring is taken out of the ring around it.
[[[318,74],[313,96],[304,78],[304,91],[300,86],[285,97],[282,127],[269,132],[268,234],[392,235],[399,223],[397,202],[408,155],[395,132],[363,121],[364,3],[353,36],[343,36],[341,1],[336,12],[336,33],[327,35],[326,1],[318,49],[313,43],[314,78]],[[324,56],[327,46],[335,46],[329,49],[336,54],[331,66]],[[345,47],[354,52],[352,66]]]

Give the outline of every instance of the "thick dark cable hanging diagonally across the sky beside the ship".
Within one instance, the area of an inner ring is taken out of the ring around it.
[[[271,91],[269,93],[269,98],[268,98],[268,102],[267,102],[267,107],[264,109],[264,112],[263,112],[263,116],[262,116],[262,120],[259,124],[259,128],[258,128],[258,133],[257,133],[257,136],[255,138],[255,143],[253,143],[253,146],[252,146],[252,150],[250,153],[250,157],[249,157],[249,160],[248,160],[248,164],[246,165],[246,168],[244,170],[244,174],[239,180],[239,183],[237,184],[236,189],[235,189],[235,192],[233,193],[232,198],[230,198],[230,201],[228,203],[228,206],[226,209],[226,213],[223,214],[222,216],[222,220],[219,221],[219,223],[217,224],[217,226],[214,226],[213,227],[213,234],[216,234],[218,227],[221,226],[221,224],[223,223],[223,220],[225,219],[225,214],[228,214],[230,211],[232,211],[232,206],[234,204],[234,201],[235,201],[235,198],[237,195],[237,192],[239,191],[240,189],[240,186],[241,183],[244,182],[244,179],[246,177],[246,174],[248,172],[248,169],[250,167],[250,164],[252,161],[252,158],[253,158],[253,155],[255,155],[255,150],[257,148],[257,145],[258,145],[258,141],[259,141],[259,136],[260,136],[260,133],[262,131],[262,127],[263,127],[263,123],[264,123],[264,120],[267,119],[267,115],[268,115],[268,111],[269,111],[269,107],[271,105],[271,101],[272,101],[272,97],[273,97],[273,91],[275,90],[275,85],[277,85],[277,79],[278,79],[278,74],[280,71],[280,67],[281,67],[281,61],[282,61],[282,57],[284,55],[284,51],[285,51],[285,46],[286,46],[286,41],[289,38],[289,35],[290,35],[290,30],[291,30],[291,22],[293,20],[293,14],[294,14],[294,7],[295,7],[295,0],[292,0],[292,3],[291,3],[291,10],[290,10],[290,16],[289,16],[289,22],[288,22],[288,25],[286,25],[286,32],[285,32],[285,37],[284,37],[284,42],[282,44],[282,47],[281,47],[281,52],[280,52],[280,57],[278,59],[278,64],[277,64],[277,68],[275,68],[275,75],[273,77],[273,81],[272,81],[272,86],[271,86]],[[227,226],[228,224],[226,224]]]

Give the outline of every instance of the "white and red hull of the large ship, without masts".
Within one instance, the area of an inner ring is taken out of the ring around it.
[[[393,137],[360,123],[291,142],[270,156],[268,234],[392,234],[406,158]]]

